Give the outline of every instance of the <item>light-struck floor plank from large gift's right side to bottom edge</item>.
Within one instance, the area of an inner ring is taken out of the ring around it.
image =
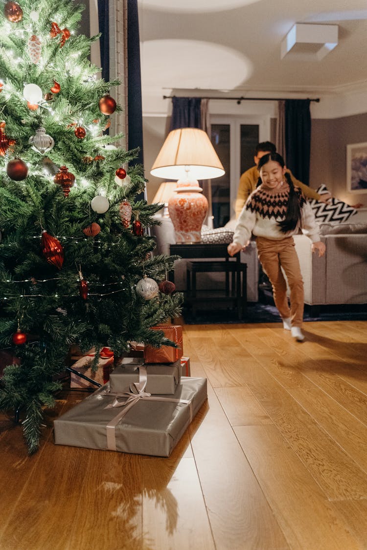
[[[210,385],[208,389],[209,410],[202,419],[202,411],[198,413],[201,423],[191,445],[217,550],[288,548]]]

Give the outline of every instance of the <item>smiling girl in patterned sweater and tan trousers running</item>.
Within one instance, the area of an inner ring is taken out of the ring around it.
[[[228,254],[233,256],[247,246],[251,233],[256,236],[259,260],[269,277],[275,305],[283,327],[301,342],[303,321],[303,281],[292,235],[299,229],[312,241],[312,250],[325,254],[319,229],[310,205],[299,188],[294,187],[281,155],[268,153],[260,158],[258,187],[251,193],[238,218]],[[286,273],[291,290],[291,308],[287,299]]]

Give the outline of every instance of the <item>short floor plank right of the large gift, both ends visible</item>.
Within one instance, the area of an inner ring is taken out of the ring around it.
[[[215,388],[231,426],[272,424],[259,401],[247,386]]]

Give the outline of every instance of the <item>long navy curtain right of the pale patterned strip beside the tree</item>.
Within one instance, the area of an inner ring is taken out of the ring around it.
[[[128,0],[128,125],[128,147],[129,149],[139,147],[139,155],[133,162],[143,164],[138,0]]]

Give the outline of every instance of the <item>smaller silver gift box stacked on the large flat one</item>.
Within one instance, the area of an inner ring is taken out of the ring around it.
[[[124,357],[118,367],[114,369],[109,377],[109,388],[111,392],[127,392],[130,384],[139,382],[139,366],[144,364],[143,359],[136,357]],[[147,373],[145,391],[160,395],[176,392],[181,378],[181,363],[178,359],[169,365],[157,363],[144,364]]]

